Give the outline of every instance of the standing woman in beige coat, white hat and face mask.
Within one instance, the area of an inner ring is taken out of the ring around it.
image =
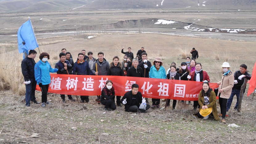
[[[226,123],[225,121],[225,116],[227,113],[227,102],[228,99],[231,95],[232,88],[234,86],[234,74],[233,72],[229,69],[229,63],[224,62],[222,64],[222,70],[223,70],[223,76],[222,80],[218,82],[217,84],[219,86],[219,91],[218,91],[218,96],[219,96],[219,103],[220,103],[220,108],[221,108],[221,113],[218,114],[221,116],[221,123]]]

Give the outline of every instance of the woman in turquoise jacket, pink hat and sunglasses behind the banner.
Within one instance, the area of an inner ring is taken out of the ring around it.
[[[166,79],[165,69],[163,68],[163,61],[161,58],[156,57],[153,61],[153,66],[149,71],[149,78]],[[152,99],[151,108],[160,108],[160,99]]]

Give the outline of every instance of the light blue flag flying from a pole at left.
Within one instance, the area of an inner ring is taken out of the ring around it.
[[[35,38],[34,29],[30,19],[25,22],[18,30],[18,48],[19,53],[28,54],[29,50],[35,49],[38,47],[38,43]]]

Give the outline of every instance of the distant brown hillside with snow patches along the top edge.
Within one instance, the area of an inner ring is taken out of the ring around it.
[[[52,12],[113,9],[255,10],[251,0],[0,0],[0,12]]]

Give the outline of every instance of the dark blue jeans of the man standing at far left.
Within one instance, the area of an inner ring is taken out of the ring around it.
[[[30,105],[30,101],[35,101],[35,86],[36,86],[36,81],[35,79],[30,80],[30,84],[26,84],[26,94],[25,94],[25,99],[26,99],[26,106]]]

